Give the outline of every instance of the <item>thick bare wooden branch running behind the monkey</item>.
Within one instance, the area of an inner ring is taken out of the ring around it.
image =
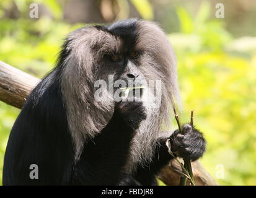
[[[8,105],[22,108],[33,87],[40,82],[40,79],[26,74],[8,64],[0,61],[0,100]],[[196,185],[210,186],[218,185],[216,181],[200,165],[199,161],[192,163],[193,174]],[[172,161],[163,168],[159,178],[167,185],[179,185],[180,166]]]

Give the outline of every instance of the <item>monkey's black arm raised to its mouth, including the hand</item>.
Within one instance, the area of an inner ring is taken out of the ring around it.
[[[118,103],[107,126],[85,145],[76,165],[74,184],[118,184],[123,179],[121,170],[128,158],[131,139],[143,119],[146,114],[141,102]]]

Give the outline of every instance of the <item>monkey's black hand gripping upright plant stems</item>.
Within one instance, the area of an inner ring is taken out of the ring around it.
[[[206,140],[203,134],[189,124],[182,125],[183,134],[179,130],[170,136],[171,150],[177,156],[192,161],[200,158],[206,150]]]

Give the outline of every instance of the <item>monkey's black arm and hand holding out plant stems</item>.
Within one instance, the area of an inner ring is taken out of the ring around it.
[[[169,137],[171,150],[176,157],[189,158],[195,161],[205,152],[206,140],[200,131],[192,128],[189,124],[183,124],[182,130],[184,134],[180,134],[179,130],[176,130]],[[154,175],[158,174],[172,160],[166,146],[166,140],[167,138],[159,139],[159,144],[149,166],[138,168],[136,179],[143,185],[150,185],[149,181],[154,184]]]

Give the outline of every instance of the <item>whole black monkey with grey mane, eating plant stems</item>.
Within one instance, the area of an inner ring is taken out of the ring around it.
[[[152,100],[114,101],[102,88],[106,100],[95,100],[95,82],[108,82],[109,75],[112,85],[161,80],[161,94],[145,86],[141,98],[148,93]],[[175,156],[192,161],[206,150],[195,127],[170,131],[173,100],[180,104],[175,53],[155,22],[126,19],[74,30],[12,127],[3,184],[157,185],[173,159],[166,140]],[[30,165],[38,166],[38,178],[30,177]]]

